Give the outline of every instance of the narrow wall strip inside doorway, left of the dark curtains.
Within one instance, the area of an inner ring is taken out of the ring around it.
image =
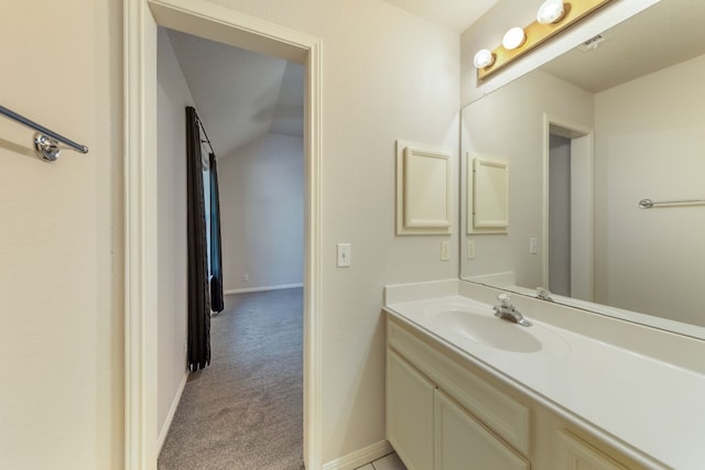
[[[186,376],[186,106],[194,106],[166,30],[158,36],[158,429],[165,437]]]

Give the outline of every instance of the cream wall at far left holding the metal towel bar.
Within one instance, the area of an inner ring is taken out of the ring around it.
[[[34,156],[0,119],[0,467],[123,460],[121,2],[3,2],[1,105],[88,145]]]

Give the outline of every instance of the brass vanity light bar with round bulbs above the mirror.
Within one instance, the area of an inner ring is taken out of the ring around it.
[[[525,28],[507,31],[500,46],[475,54],[477,78],[482,80],[512,61],[540,46],[565,29],[586,18],[611,0],[542,0],[536,21]],[[489,52],[489,54],[488,54]],[[481,54],[480,54],[481,53]],[[491,57],[487,65],[482,58]]]

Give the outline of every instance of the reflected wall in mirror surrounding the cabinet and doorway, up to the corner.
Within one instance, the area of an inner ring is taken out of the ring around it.
[[[464,277],[514,271],[518,285],[543,284],[543,253],[530,254],[529,239],[543,245],[544,113],[592,128],[594,97],[534,70],[463,109],[463,157],[471,151],[510,164],[508,233],[467,236],[475,259],[464,261]]]

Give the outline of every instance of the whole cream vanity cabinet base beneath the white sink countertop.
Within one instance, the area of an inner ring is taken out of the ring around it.
[[[409,470],[665,468],[636,463],[393,315],[387,439]]]

